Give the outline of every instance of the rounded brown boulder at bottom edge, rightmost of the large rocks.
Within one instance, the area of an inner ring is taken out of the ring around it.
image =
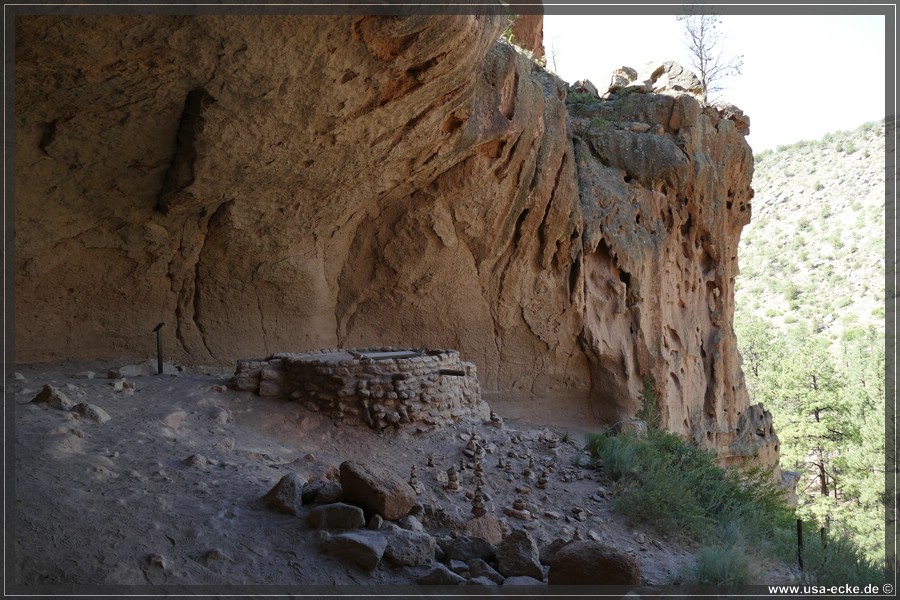
[[[641,564],[602,542],[575,541],[556,553],[547,581],[550,585],[640,585]]]

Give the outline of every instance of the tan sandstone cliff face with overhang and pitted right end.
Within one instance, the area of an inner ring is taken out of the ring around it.
[[[731,329],[742,134],[685,94],[569,111],[505,24],[18,18],[17,360],[148,356],[160,321],[195,364],[457,348],[598,422],[649,380],[670,429],[777,459]]]

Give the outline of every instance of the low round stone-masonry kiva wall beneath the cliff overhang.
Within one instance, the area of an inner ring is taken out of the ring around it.
[[[313,412],[373,429],[443,427],[490,418],[475,365],[456,350],[326,349],[238,361],[235,386],[292,398]]]

